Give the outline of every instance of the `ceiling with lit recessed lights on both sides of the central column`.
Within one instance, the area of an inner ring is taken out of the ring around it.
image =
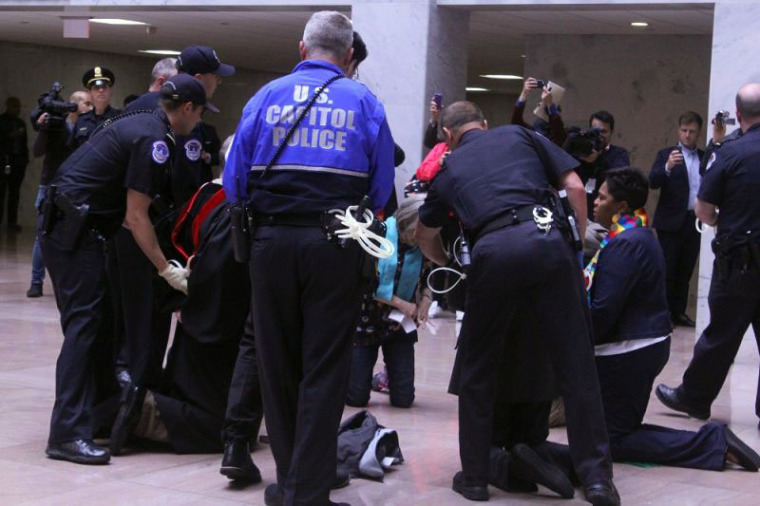
[[[89,39],[63,39],[63,11],[0,11],[0,40],[137,54],[138,49],[182,49],[202,43],[214,47],[222,61],[242,68],[288,72],[298,60],[297,47],[309,11],[130,10],[97,13],[155,27],[91,25]],[[346,14],[350,14],[346,12]],[[524,39],[529,34],[704,34],[712,33],[713,8],[705,4],[660,4],[647,8],[620,5],[473,10],[469,34],[469,84],[487,84],[506,92],[519,82],[485,81],[485,73],[522,75]],[[646,21],[636,29],[632,21]],[[154,56],[146,55],[146,58]]]

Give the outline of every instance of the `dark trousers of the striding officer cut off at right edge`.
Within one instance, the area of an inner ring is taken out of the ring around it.
[[[742,272],[737,267],[722,272],[718,261],[714,262],[707,300],[710,324],[694,347],[682,387],[684,400],[705,410],[718,397],[750,325],[760,347],[760,270]],[[760,398],[755,401],[755,413],[760,417]]]

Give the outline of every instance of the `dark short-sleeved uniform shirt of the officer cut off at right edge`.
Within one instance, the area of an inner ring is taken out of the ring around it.
[[[699,200],[720,208],[718,238],[760,239],[760,123],[714,152]]]

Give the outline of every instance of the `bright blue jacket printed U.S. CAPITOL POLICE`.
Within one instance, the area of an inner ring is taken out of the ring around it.
[[[247,200],[261,214],[345,209],[364,195],[375,209],[386,204],[393,187],[394,143],[385,110],[366,86],[348,78],[322,92],[261,177],[299,108],[338,73],[342,70],[330,62],[305,60],[246,104],[224,170],[230,201]]]

